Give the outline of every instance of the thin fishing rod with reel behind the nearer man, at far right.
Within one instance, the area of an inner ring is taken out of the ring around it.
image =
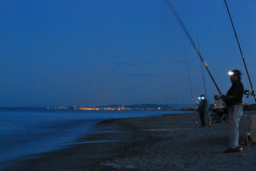
[[[246,70],[246,73],[247,73],[247,76],[248,76],[248,79],[249,79],[249,82],[250,82],[250,85],[251,85],[251,89],[252,89],[252,92],[249,92],[249,90],[245,90],[244,91],[244,95],[246,96],[246,98],[249,98],[249,96],[252,95],[254,97],[255,102],[256,102],[256,97],[255,97],[255,93],[254,93],[254,90],[253,90],[253,87],[252,87],[251,78],[250,78],[249,72],[247,70],[247,66],[245,64],[245,60],[244,60],[244,56],[243,56],[243,53],[242,53],[242,49],[241,49],[241,46],[239,44],[239,41],[238,41],[238,38],[237,38],[237,35],[236,35],[236,30],[235,30],[235,27],[234,27],[231,15],[230,15],[229,10],[228,10],[228,5],[227,5],[226,0],[224,0],[224,2],[225,2],[226,7],[227,7],[229,19],[231,21],[231,24],[232,24],[232,27],[233,27],[233,30],[234,30],[234,33],[235,33],[236,41],[237,41],[237,44],[238,44],[238,47],[239,47],[239,50],[240,50],[240,53],[241,53],[241,56],[242,56],[242,59],[243,59],[243,62],[244,62],[244,67],[245,67],[245,70]]]

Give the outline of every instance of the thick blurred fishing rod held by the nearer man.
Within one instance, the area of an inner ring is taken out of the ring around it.
[[[178,22],[180,23],[180,25],[181,25],[183,31],[185,31],[185,33],[186,33],[188,39],[190,40],[191,44],[192,44],[193,47],[195,48],[196,53],[198,54],[199,58],[201,59],[202,63],[204,64],[205,69],[206,69],[206,71],[208,72],[208,74],[210,75],[210,77],[211,77],[211,79],[212,79],[212,81],[213,81],[215,87],[217,88],[218,92],[220,93],[220,95],[222,95],[221,92],[220,92],[219,87],[217,86],[217,83],[216,83],[215,80],[213,79],[213,76],[212,76],[210,70],[208,69],[208,66],[207,66],[206,62],[204,61],[204,59],[203,59],[203,57],[201,56],[201,54],[198,52],[198,49],[197,49],[197,47],[196,47],[195,42],[193,41],[193,39],[192,39],[191,36],[189,35],[189,32],[188,32],[188,30],[186,29],[186,27],[185,27],[185,25],[183,24],[183,22],[181,21],[181,19],[180,19],[178,13],[175,11],[175,9],[173,8],[173,6],[172,6],[172,4],[170,3],[170,1],[167,0],[167,4],[168,4],[169,7],[171,8],[173,14],[175,15],[175,17],[177,18]]]

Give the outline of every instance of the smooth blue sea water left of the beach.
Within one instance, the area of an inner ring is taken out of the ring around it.
[[[183,113],[145,110],[0,109],[0,161],[65,148],[104,120]]]

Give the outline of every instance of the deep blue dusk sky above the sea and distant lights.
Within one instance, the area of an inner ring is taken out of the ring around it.
[[[227,3],[256,86],[256,1]],[[172,4],[222,93],[232,69],[250,89],[225,3]],[[204,93],[199,58],[165,1],[1,1],[0,25],[0,107],[191,104],[183,44],[194,97]]]

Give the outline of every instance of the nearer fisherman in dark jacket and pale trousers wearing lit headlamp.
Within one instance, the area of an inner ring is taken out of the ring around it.
[[[241,82],[241,72],[239,70],[231,70],[228,73],[232,83],[227,95],[221,95],[220,98],[228,107],[228,126],[229,126],[229,148],[225,153],[240,152],[239,149],[239,120],[243,116],[242,98],[244,93],[244,86]]]

